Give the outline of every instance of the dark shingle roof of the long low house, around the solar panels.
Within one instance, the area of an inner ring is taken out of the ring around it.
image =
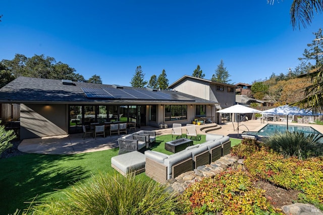
[[[165,90],[172,99],[164,100],[144,100],[144,99],[115,99],[115,98],[88,98],[82,88],[114,88],[113,85],[94,84],[84,82],[73,82],[73,85],[64,85],[62,80],[18,77],[0,89],[1,103],[207,103],[216,104],[217,102],[208,101],[191,95]],[[138,89],[124,87],[127,89]],[[140,88],[140,90],[143,90]],[[148,91],[148,90],[147,90]]]

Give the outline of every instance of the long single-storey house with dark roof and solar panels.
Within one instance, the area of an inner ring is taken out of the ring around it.
[[[3,109],[20,104],[20,139],[81,133],[81,125],[95,122],[135,122],[138,127],[187,124],[200,105],[211,112],[219,104],[172,90],[28,77],[1,88],[0,103]]]

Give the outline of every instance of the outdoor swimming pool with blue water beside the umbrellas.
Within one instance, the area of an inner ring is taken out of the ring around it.
[[[258,135],[258,136],[272,136],[277,133],[284,133],[287,130],[286,125],[274,125],[268,124],[263,127],[258,132],[247,131],[243,133],[251,134],[251,135]],[[320,134],[318,131],[313,129],[310,126],[288,126],[288,131],[290,132],[304,132],[305,135],[309,135],[311,133]]]

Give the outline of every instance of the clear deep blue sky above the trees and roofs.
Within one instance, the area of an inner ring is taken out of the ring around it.
[[[169,84],[200,65],[206,79],[224,61],[232,83],[299,65],[323,15],[306,29],[290,24],[292,1],[2,0],[0,60],[16,53],[53,57],[86,79],[130,86],[165,69]]]

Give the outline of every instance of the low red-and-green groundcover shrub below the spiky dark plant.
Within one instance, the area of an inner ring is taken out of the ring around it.
[[[286,189],[302,191],[299,199],[323,209],[323,157],[299,160],[277,152],[258,151],[248,156],[245,167],[254,178]]]

